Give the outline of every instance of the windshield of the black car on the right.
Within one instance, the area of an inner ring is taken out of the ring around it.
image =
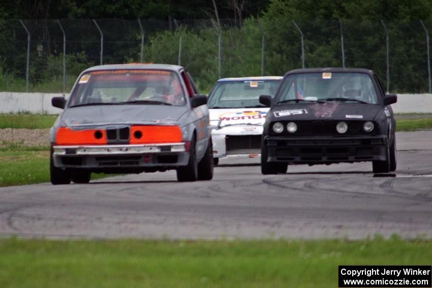
[[[292,74],[282,85],[276,104],[304,101],[378,103],[371,77],[364,73]]]

